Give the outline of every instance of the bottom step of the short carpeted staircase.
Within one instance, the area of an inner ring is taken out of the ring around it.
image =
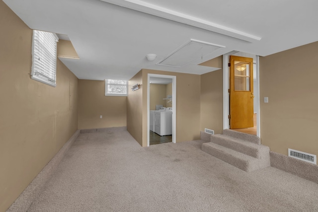
[[[270,166],[269,155],[257,159],[213,142],[203,143],[202,150],[246,172]]]

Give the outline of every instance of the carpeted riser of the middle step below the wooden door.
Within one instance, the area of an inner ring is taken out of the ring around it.
[[[230,141],[230,140],[227,140],[226,138],[211,136],[211,142],[219,144],[221,146],[225,146],[227,148],[231,148],[243,154],[247,154],[251,157],[255,157],[258,159],[261,158],[262,152],[260,152],[259,149],[255,149],[253,147],[246,146],[235,141]]]

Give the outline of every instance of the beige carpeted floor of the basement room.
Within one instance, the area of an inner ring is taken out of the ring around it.
[[[317,212],[318,184],[246,173],[203,141],[141,147],[127,131],[80,134],[30,212]]]

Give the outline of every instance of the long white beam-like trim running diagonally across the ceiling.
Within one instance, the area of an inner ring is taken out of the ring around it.
[[[101,0],[115,5],[123,6],[136,11],[144,12],[147,14],[155,15],[168,20],[184,23],[190,26],[195,26],[211,32],[217,32],[233,38],[248,42],[257,42],[262,38],[242,32],[224,25],[216,24],[201,18],[197,18],[185,13],[177,12],[168,8],[164,8],[155,4],[148,3],[142,0]]]

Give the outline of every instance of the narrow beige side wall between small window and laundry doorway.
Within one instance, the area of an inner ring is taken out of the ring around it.
[[[143,87],[147,87],[147,84],[143,84],[142,80],[143,72],[139,71],[128,82],[128,97],[127,97],[127,131],[143,145]],[[132,91],[130,88],[135,84],[141,84],[140,89]],[[147,91],[147,88],[146,88]],[[146,92],[147,93],[147,92]],[[147,96],[147,94],[146,94]],[[147,105],[146,109],[147,111]],[[146,132],[147,133],[147,132]],[[147,140],[146,140],[147,146]]]

